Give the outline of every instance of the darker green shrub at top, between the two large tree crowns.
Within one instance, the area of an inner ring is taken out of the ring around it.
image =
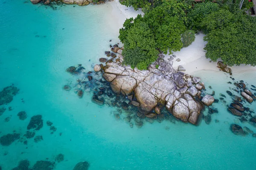
[[[217,3],[197,3],[188,13],[189,27],[193,30],[201,29],[201,22],[208,14],[218,10]]]

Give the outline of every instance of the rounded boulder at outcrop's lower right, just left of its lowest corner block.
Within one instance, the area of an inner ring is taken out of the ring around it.
[[[183,102],[175,101],[172,108],[172,115],[174,115],[176,118],[180,118],[182,121],[188,121],[189,109]]]

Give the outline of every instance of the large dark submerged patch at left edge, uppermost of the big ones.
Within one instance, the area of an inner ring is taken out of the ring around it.
[[[12,86],[5,87],[0,92],[0,106],[3,104],[10,103],[13,100],[13,97],[17,95],[18,92],[19,92],[19,89],[15,87],[13,84]]]

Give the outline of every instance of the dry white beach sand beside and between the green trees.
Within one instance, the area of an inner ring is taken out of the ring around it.
[[[143,12],[140,10],[135,11],[132,7],[126,7],[119,3],[119,0],[114,0],[113,2],[109,2],[112,6],[112,15],[116,17],[118,22],[116,22],[116,26],[122,28],[123,22],[126,18],[137,17],[138,14],[142,14]],[[205,58],[206,51],[204,47],[207,42],[203,40],[205,35],[200,33],[195,36],[195,41],[188,47],[182,48],[179,52],[173,52],[173,55],[176,55],[173,61],[173,68],[177,69],[179,65],[183,66],[186,69],[186,74],[193,75],[195,72],[200,70],[211,70],[219,72],[220,70],[217,67],[217,62],[210,62],[209,58]],[[165,60],[172,55],[165,55]],[[176,61],[180,59],[180,62]],[[218,60],[221,61],[221,60]],[[240,66],[230,67],[232,72],[253,72],[256,71],[255,66],[246,66],[241,64]]]

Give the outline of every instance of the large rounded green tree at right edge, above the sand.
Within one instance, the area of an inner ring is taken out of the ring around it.
[[[219,10],[209,14],[203,21],[207,35],[206,58],[221,58],[229,66],[256,65],[256,18],[242,12]]]

